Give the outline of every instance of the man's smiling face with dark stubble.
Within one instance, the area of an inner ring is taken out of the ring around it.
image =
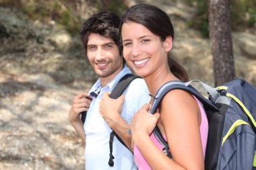
[[[111,38],[92,33],[88,37],[86,48],[90,65],[98,77],[117,75],[123,69],[123,58],[119,54],[117,44]]]

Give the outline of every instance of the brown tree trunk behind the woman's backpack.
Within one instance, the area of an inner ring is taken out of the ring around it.
[[[208,0],[215,86],[235,78],[230,25],[230,0]]]

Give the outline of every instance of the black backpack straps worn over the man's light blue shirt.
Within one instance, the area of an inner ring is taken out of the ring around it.
[[[110,93],[110,98],[112,99],[117,99],[118,97],[120,97],[123,92],[125,91],[125,89],[129,86],[129,84],[131,83],[131,81],[133,81],[134,79],[137,78],[141,78],[137,75],[133,75],[133,74],[127,74],[124,75],[119,82],[117,83],[117,85],[114,87],[113,91],[111,91]],[[86,114],[87,112],[82,112],[81,113],[81,120],[84,124],[84,122],[86,121]],[[113,153],[113,140],[114,137],[117,137],[117,139],[119,140],[119,142],[121,142],[123,144],[123,146],[125,146],[127,149],[129,149],[126,145],[125,142],[123,142],[123,140],[115,133],[114,130],[112,130],[112,132],[110,132],[110,138],[109,138],[109,150],[110,150],[110,154],[109,154],[109,161],[108,161],[108,165],[110,167],[114,166],[114,161],[113,159],[115,159],[115,157],[112,155]]]

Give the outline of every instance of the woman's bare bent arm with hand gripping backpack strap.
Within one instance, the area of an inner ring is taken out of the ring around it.
[[[152,169],[203,169],[201,114],[193,96],[182,90],[170,91],[159,110],[158,126],[166,135],[173,159],[164,155],[149,137],[152,125],[156,125],[152,120],[156,118],[140,110],[131,124],[133,142]]]

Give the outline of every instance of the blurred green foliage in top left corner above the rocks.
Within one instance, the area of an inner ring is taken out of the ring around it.
[[[70,3],[73,3],[71,1]],[[61,0],[3,0],[0,5],[21,9],[33,20],[61,24],[70,34],[77,34],[80,28],[80,18],[67,3]]]

